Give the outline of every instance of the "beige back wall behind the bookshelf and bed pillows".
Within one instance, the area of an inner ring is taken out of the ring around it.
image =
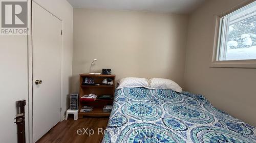
[[[110,68],[123,77],[163,77],[184,85],[185,15],[74,9],[73,91],[78,74]]]

